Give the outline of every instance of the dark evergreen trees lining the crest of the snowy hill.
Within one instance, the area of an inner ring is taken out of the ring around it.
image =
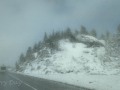
[[[52,34],[49,34],[49,35],[45,32],[43,40],[39,41],[38,43],[35,43],[33,47],[28,47],[25,54],[21,53],[19,60],[16,62],[16,69],[19,70],[20,66],[24,62],[27,63],[32,60],[35,60],[36,57],[34,53],[39,53],[39,54],[43,53],[43,52],[40,52],[40,50],[42,50],[43,48],[49,48],[50,53],[54,53],[55,51],[59,50],[58,41],[61,39],[69,39],[71,42],[78,42],[75,36],[79,34],[91,35],[93,37],[99,38],[97,31],[95,29],[88,31],[85,26],[81,26],[80,30],[74,30],[74,31],[71,30],[70,28],[67,28],[64,31],[56,31],[56,32],[53,31]],[[110,51],[109,48],[114,47],[114,44],[119,46],[120,45],[120,25],[118,26],[117,32],[115,35],[114,34],[112,35],[110,32],[106,31],[104,34],[101,34],[100,39],[103,39],[107,42],[106,50],[108,52]],[[114,42],[114,44],[112,42]],[[116,43],[119,43],[119,44],[116,44]],[[44,54],[41,54],[41,55],[43,56]]]

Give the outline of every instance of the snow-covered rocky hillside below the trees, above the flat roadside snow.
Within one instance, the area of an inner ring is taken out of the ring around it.
[[[35,60],[24,62],[21,67],[24,73],[35,74],[118,74],[115,68],[118,62],[104,61],[105,42],[88,35],[76,36],[78,42],[61,39],[58,42],[59,50],[51,53],[48,47],[33,53]]]

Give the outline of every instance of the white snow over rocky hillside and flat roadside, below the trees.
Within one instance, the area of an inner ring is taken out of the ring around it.
[[[120,78],[114,75],[120,69],[115,67],[117,62],[103,60],[105,41],[88,35],[76,39],[78,42],[59,40],[59,50],[54,53],[48,47],[33,53],[35,60],[22,64],[22,73],[97,90],[118,90],[120,87],[115,83]]]

